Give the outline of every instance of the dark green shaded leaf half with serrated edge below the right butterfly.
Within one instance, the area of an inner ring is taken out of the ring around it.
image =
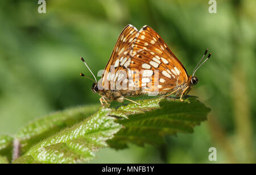
[[[108,141],[111,147],[126,148],[127,143],[162,144],[164,135],[176,136],[177,132],[192,133],[193,127],[206,120],[210,111],[196,97],[188,97],[184,102],[175,98],[138,102],[142,105],[131,103],[111,113],[128,118],[117,121],[123,128]]]

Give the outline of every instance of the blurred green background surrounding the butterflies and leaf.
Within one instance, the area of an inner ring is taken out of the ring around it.
[[[126,24],[148,24],[166,41],[188,73],[213,53],[196,73],[191,95],[212,111],[194,134],[166,137],[159,147],[101,149],[92,163],[255,163],[256,13],[255,1],[38,1],[0,2],[0,134],[15,134],[31,120],[67,107],[100,103],[90,91]]]

